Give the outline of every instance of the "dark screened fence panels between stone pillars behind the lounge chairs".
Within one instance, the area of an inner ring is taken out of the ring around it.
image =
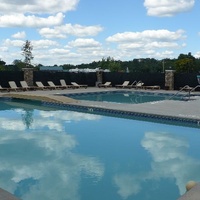
[[[33,82],[41,81],[47,85],[47,81],[51,80],[56,85],[60,84],[60,79],[64,79],[67,84],[75,81],[79,84],[87,84],[95,86],[97,82],[97,74],[90,73],[73,73],[73,72],[55,72],[55,71],[34,71]],[[15,81],[17,86],[20,86],[20,81],[24,80],[23,71],[0,71],[0,85],[9,87],[8,81]],[[111,81],[113,85],[121,84],[124,81],[142,81],[145,85],[159,85],[162,89],[165,88],[165,73],[118,73],[118,72],[103,72],[102,81]],[[174,74],[174,89],[179,90],[180,87],[189,85],[195,87],[198,85],[197,73],[175,73]]]

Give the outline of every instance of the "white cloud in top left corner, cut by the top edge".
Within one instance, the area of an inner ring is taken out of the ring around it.
[[[58,13],[75,10],[79,0],[0,0],[0,14],[7,13]]]

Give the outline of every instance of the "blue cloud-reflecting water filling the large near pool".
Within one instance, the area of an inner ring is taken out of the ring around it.
[[[200,181],[199,128],[0,102],[0,187],[23,200],[169,200]]]

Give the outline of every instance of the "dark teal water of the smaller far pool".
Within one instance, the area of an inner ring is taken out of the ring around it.
[[[101,101],[101,102],[115,102],[115,103],[128,103],[138,104],[153,101],[168,100],[173,94],[167,93],[153,93],[153,92],[129,92],[129,91],[118,91],[118,92],[93,92],[93,93],[74,93],[64,94],[77,100],[87,101]],[[173,100],[185,100],[185,95],[176,95]]]

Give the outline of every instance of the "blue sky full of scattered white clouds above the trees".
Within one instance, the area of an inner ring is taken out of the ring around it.
[[[200,57],[199,0],[0,0],[0,59],[33,65]]]

